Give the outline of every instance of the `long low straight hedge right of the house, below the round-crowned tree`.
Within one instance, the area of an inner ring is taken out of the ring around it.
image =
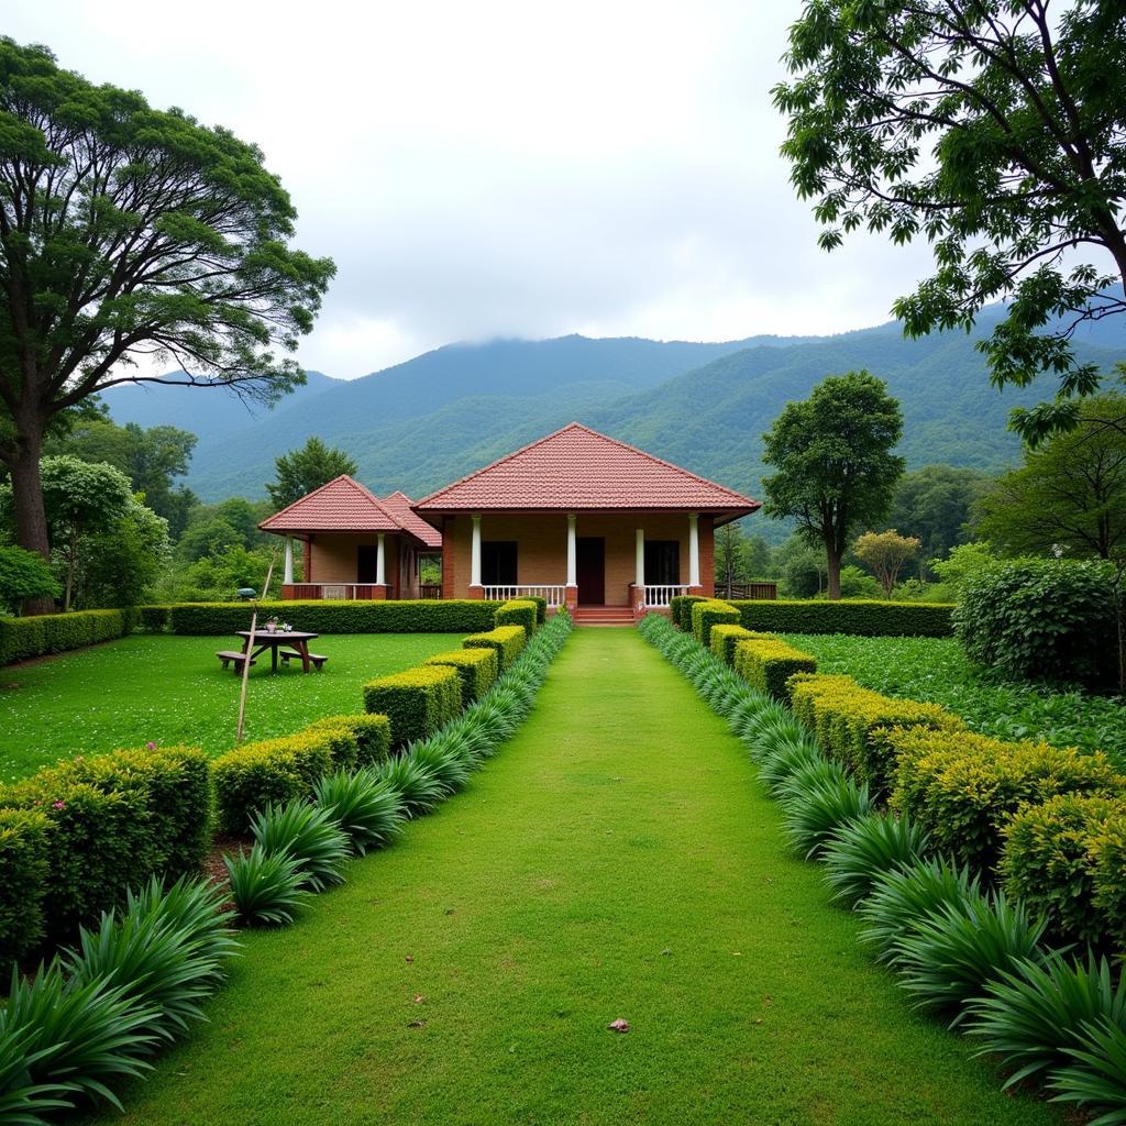
[[[730,604],[748,629],[762,633],[842,633],[864,637],[949,637],[954,633],[945,602],[757,601]]]

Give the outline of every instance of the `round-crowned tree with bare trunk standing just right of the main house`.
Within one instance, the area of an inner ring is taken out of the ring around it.
[[[792,517],[801,536],[825,552],[829,597],[841,597],[841,558],[857,528],[883,519],[903,458],[899,402],[882,379],[849,372],[822,379],[808,399],[789,403],[763,435],[765,511]]]

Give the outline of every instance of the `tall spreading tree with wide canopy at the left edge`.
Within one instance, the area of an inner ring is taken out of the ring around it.
[[[304,381],[284,354],[333,266],[289,245],[296,213],[262,160],[0,39],[0,461],[21,546],[48,554],[44,435],[90,395],[155,382],[271,401]]]

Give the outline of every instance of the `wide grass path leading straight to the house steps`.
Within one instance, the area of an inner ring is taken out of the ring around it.
[[[857,929],[679,673],[579,629],[465,794],[248,936],[124,1121],[1062,1120],[913,1015]]]

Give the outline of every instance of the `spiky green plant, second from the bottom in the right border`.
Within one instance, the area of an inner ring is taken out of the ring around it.
[[[1126,978],[1088,954],[1075,962],[1062,951],[1044,962],[1002,969],[969,1004],[966,1031],[983,1040],[980,1055],[997,1055],[1010,1072],[1006,1087],[1053,1067],[1066,1067],[1084,1025],[1126,1026]]]

